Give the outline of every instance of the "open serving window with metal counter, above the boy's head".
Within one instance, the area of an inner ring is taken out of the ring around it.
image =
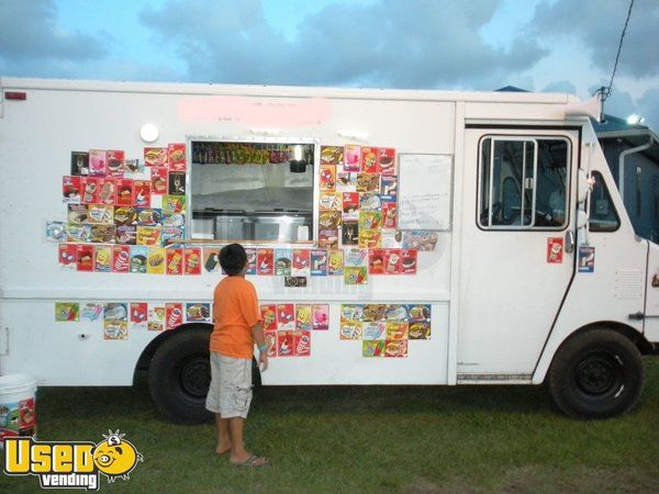
[[[223,240],[313,236],[313,144],[193,141],[192,237]]]

